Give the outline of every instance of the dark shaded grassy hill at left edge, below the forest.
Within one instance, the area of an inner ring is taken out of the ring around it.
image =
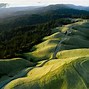
[[[14,76],[22,69],[32,65],[33,63],[22,58],[0,59],[0,75]]]

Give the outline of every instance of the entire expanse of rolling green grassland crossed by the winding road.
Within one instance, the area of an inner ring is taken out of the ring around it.
[[[24,59],[1,60],[0,73],[5,75],[1,74],[0,88],[89,89],[88,25],[81,20],[56,27],[32,52],[22,54]],[[31,67],[30,61],[38,64]]]

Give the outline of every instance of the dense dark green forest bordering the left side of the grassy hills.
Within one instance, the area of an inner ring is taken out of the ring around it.
[[[31,47],[52,33],[51,28],[71,23],[70,19],[52,20],[43,24],[9,29],[0,33],[0,58],[12,58],[30,51]]]

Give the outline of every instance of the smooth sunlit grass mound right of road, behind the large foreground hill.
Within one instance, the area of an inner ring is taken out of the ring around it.
[[[81,56],[89,56],[89,49],[64,50],[64,51],[58,52],[56,55],[56,57],[60,59],[81,57]]]

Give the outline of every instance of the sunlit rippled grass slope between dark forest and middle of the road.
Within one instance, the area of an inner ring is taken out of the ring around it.
[[[50,59],[51,55],[55,51],[55,47],[58,44],[58,42],[59,42],[59,39],[57,39],[57,38],[46,40],[46,41],[36,45],[34,47],[34,49],[36,49],[35,51],[25,53],[24,56],[30,61],[31,60],[32,61],[41,61],[41,60]]]

